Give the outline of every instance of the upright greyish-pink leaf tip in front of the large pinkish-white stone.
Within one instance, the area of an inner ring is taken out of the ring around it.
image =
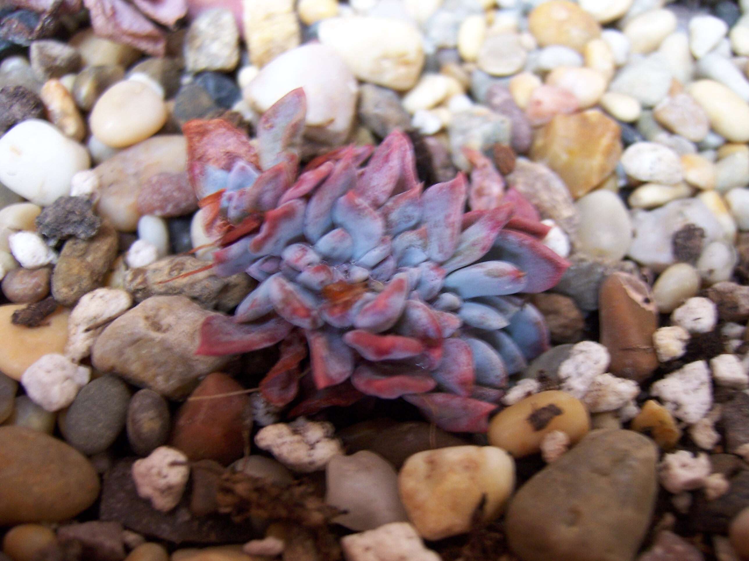
[[[286,153],[296,155],[302,140],[307,98],[303,88],[292,90],[275,102],[260,117],[257,126],[260,166],[267,170],[286,160]]]

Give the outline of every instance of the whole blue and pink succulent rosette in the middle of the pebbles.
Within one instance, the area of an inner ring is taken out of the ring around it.
[[[258,281],[233,317],[205,320],[198,354],[280,343],[260,390],[278,407],[297,400],[291,416],[403,398],[443,429],[485,431],[508,375],[548,348],[522,295],[568,266],[539,241],[548,227],[474,150],[470,183],[424,188],[399,131],[297,177],[305,112],[300,89],[266,111],[256,141],[225,120],[184,126],[213,269]]]

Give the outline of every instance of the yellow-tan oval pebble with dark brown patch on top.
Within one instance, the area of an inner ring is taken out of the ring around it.
[[[489,444],[515,458],[535,454],[548,432],[565,432],[572,444],[590,428],[585,406],[563,391],[543,391],[500,411],[489,423]]]

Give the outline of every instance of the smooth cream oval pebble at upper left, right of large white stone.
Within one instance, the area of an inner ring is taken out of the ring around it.
[[[123,148],[154,135],[166,123],[164,100],[148,85],[125,80],[97,99],[88,123],[107,146]]]

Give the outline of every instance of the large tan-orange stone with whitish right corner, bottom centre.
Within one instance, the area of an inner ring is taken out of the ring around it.
[[[470,531],[476,509],[498,518],[515,487],[515,462],[504,450],[458,446],[414,454],[398,474],[408,518],[422,538]]]

